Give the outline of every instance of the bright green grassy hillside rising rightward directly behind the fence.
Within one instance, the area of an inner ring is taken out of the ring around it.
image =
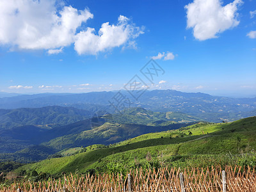
[[[256,117],[232,123],[198,123],[178,130],[149,133],[130,140],[101,146],[72,156],[27,164],[31,172],[116,172],[129,168],[169,166],[211,166],[211,164],[256,164]],[[252,152],[250,156],[242,155]],[[228,155],[227,155],[228,154]]]

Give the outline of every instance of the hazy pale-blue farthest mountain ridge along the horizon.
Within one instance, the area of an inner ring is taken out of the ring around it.
[[[198,116],[209,122],[233,121],[252,115],[256,110],[256,98],[229,98],[212,96],[205,93],[184,93],[175,90],[146,91],[138,100],[132,99],[129,92],[121,93],[131,99],[132,107],[152,111],[175,111]],[[41,108],[44,106],[68,106],[89,111],[106,110],[113,113],[109,106],[116,92],[90,92],[79,94],[45,93],[0,98],[0,108]],[[96,109],[96,110],[95,110]]]

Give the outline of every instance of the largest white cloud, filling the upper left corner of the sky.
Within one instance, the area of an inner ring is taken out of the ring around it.
[[[92,19],[88,10],[56,9],[54,0],[2,0],[0,42],[19,49],[56,49],[74,42],[76,29]]]

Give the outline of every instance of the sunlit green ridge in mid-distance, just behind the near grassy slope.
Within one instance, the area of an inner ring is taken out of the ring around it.
[[[167,131],[170,129],[179,129],[182,126],[195,124],[194,122],[186,124],[170,125],[138,125],[138,124],[117,124],[106,122],[99,127],[88,129],[79,134],[68,134],[43,143],[43,145],[57,150],[63,150],[68,147],[88,146],[94,144],[109,145],[129,138],[140,136],[148,132]]]

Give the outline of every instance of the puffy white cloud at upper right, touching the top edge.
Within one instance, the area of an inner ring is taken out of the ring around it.
[[[187,28],[193,28],[198,40],[217,38],[217,34],[239,24],[237,7],[243,1],[235,0],[222,6],[220,0],[194,0],[185,6],[187,10]]]

